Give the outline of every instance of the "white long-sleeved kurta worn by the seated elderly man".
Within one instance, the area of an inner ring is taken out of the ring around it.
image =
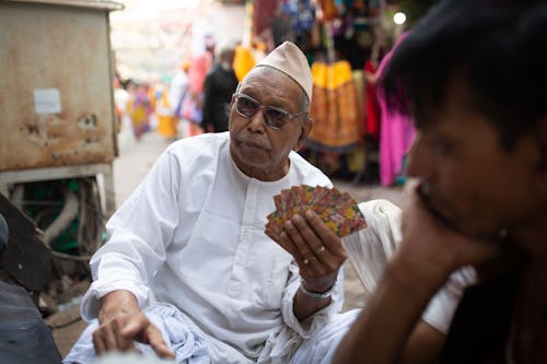
[[[233,163],[228,132],[171,144],[108,221],[82,316],[96,317],[100,297],[128,290],[141,307],[178,307],[207,336],[213,363],[290,355],[301,337],[339,310],[344,294],[339,279],[333,304],[311,322],[293,315],[298,267],[265,235],[266,216],[281,189],[331,184],[296,153],[290,161],[282,179],[260,181]]]

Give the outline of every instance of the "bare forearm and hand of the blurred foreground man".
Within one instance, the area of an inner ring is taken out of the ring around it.
[[[416,188],[416,181],[407,183],[403,242],[333,363],[434,362],[442,334],[435,339],[432,328],[420,321],[429,300],[454,270],[489,259],[497,251],[493,245],[439,223]]]

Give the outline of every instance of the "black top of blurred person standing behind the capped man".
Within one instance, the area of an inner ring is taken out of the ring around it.
[[[224,70],[216,64],[205,81],[203,119],[201,126],[207,131],[212,127],[214,132],[228,130],[226,106],[237,87],[234,71]]]

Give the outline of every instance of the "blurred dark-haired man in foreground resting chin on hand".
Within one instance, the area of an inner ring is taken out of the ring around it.
[[[383,85],[414,113],[415,179],[399,249],[335,363],[547,363],[546,24],[545,1],[445,1],[395,51]],[[477,282],[447,336],[417,331],[463,266]]]

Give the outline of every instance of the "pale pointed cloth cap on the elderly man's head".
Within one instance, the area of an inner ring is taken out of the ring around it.
[[[306,57],[294,43],[284,42],[255,67],[260,66],[275,68],[296,81],[306,93],[310,102],[312,101],[312,71]]]

